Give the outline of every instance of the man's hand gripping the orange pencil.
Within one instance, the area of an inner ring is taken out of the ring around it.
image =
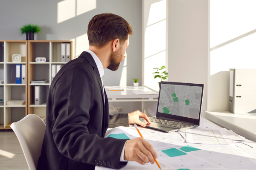
[[[157,158],[157,152],[145,139],[139,137],[126,142],[124,153],[126,161],[137,161],[143,165],[148,162],[154,164],[154,158]]]

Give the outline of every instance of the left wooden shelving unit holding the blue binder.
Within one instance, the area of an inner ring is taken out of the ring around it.
[[[0,40],[0,79],[3,84],[3,105],[0,105],[0,129],[10,122],[17,122],[27,115],[27,103],[22,106],[7,106],[9,99],[23,99],[27,101],[27,83],[16,84],[15,64],[26,64],[27,75],[27,41],[26,40]],[[21,62],[12,62],[12,54],[20,54]]]

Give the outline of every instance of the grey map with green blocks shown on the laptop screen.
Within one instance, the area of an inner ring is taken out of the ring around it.
[[[162,84],[158,112],[199,119],[202,87]]]

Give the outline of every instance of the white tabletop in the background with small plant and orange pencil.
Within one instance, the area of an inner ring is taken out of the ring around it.
[[[128,98],[158,98],[158,94],[146,94],[146,95],[137,95],[133,91],[151,91],[150,89],[139,86],[104,86],[108,99],[119,98],[119,99],[128,99]],[[124,91],[108,91],[108,89],[122,88]]]

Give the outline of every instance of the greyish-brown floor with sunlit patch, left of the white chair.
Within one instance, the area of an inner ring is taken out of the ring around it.
[[[0,130],[0,170],[29,170],[17,136]]]

